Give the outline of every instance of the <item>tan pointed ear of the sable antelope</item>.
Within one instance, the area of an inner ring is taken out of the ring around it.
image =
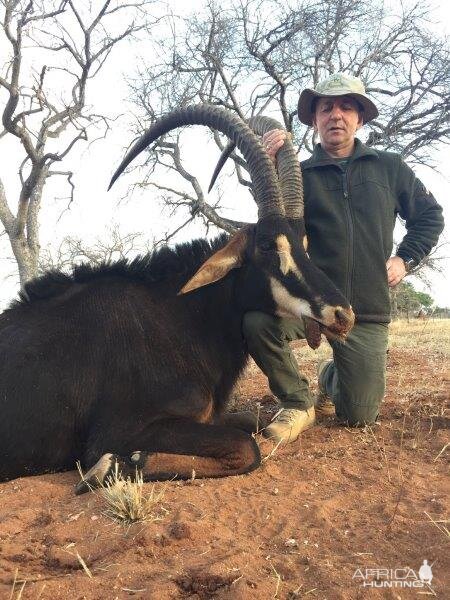
[[[225,277],[231,269],[239,268],[244,260],[248,234],[246,229],[235,233],[228,244],[205,261],[197,273],[178,292],[186,294]]]

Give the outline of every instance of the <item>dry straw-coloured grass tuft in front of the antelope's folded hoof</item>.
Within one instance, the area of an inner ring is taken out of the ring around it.
[[[164,489],[157,492],[153,485],[150,493],[146,494],[142,472],[136,471],[134,480],[124,478],[117,463],[114,473],[106,479],[97,493],[106,503],[105,514],[124,525],[161,521],[167,513],[161,505]]]

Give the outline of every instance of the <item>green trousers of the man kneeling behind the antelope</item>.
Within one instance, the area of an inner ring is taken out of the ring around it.
[[[308,380],[289,347],[305,337],[303,321],[254,311],[244,315],[242,331],[281,405],[312,406]],[[376,420],[386,387],[387,340],[387,323],[356,323],[345,343],[331,342],[333,362],[322,371],[319,387],[333,401],[339,420],[352,426]]]

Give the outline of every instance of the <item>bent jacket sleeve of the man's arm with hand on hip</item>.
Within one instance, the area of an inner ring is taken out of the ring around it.
[[[403,161],[397,182],[397,211],[406,224],[406,235],[397,248],[397,256],[413,258],[419,263],[437,244],[444,229],[442,207]]]

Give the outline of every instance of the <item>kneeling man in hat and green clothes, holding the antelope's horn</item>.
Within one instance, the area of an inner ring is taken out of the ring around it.
[[[251,355],[281,401],[266,437],[288,443],[312,427],[315,413],[336,414],[350,426],[374,423],[385,391],[390,303],[397,285],[437,243],[442,208],[399,155],[374,150],[355,134],[378,115],[362,82],[337,73],[300,95],[298,116],[320,143],[301,163],[308,252],[350,301],[356,323],[345,344],[331,343],[333,359],[318,367],[320,394],[314,407],[289,342],[305,337],[293,319],[249,312],[243,333]],[[266,133],[275,155],[286,132]],[[407,233],[390,256],[396,215]]]

